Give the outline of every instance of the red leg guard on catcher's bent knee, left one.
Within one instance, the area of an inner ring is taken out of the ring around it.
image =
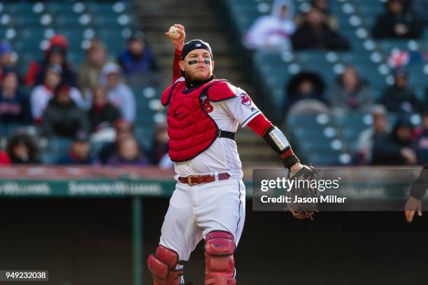
[[[150,254],[147,265],[155,279],[154,285],[179,285],[182,281],[183,268],[176,269],[178,254],[172,249],[159,245],[155,254]]]

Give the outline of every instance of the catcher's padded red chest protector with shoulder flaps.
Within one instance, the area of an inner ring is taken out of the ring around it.
[[[208,115],[211,102],[236,96],[236,89],[227,80],[211,80],[186,89],[185,81],[171,85],[162,94],[162,105],[168,108],[169,157],[172,161],[188,161],[204,152],[219,136],[219,129]]]

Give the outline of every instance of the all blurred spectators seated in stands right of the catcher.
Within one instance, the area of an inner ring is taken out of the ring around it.
[[[301,13],[297,13],[294,3],[274,1],[271,14],[259,17],[245,34],[245,47],[272,53],[352,50],[350,42],[341,35],[340,23],[330,13],[328,0],[312,0]],[[371,36],[375,40],[417,40],[423,35],[427,22],[428,1],[388,0],[383,13],[373,22]],[[355,164],[427,163],[428,84],[425,98],[421,98],[409,83],[411,75],[404,64],[390,66],[394,68],[393,82],[385,83],[381,92],[373,89],[371,78],[364,78],[364,74],[359,74],[351,64],[345,65],[336,80],[328,85],[322,75],[301,71],[287,82],[284,110],[287,115],[371,113],[373,126],[359,135],[354,149]],[[380,96],[375,96],[375,91]],[[388,114],[394,114],[397,119],[391,120]],[[420,126],[411,123],[413,114],[422,118]]]

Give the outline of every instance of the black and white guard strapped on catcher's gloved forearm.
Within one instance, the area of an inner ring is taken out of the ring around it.
[[[285,168],[291,168],[299,159],[292,151],[290,142],[285,138],[284,134],[276,126],[271,126],[263,136],[264,140],[272,147],[277,154],[279,154],[280,163]]]

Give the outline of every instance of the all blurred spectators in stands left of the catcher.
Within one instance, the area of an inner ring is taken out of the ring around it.
[[[155,126],[151,149],[134,134],[138,98],[128,82],[141,83],[157,71],[141,31],[115,59],[108,58],[106,43],[93,39],[81,63],[69,61],[67,38],[55,34],[25,74],[18,73],[13,52],[10,43],[0,43],[0,165],[43,163],[43,147],[66,138],[69,149],[53,161],[59,165],[171,168],[163,124]],[[2,129],[11,125],[16,129],[6,138]],[[102,144],[98,153],[93,142]]]

